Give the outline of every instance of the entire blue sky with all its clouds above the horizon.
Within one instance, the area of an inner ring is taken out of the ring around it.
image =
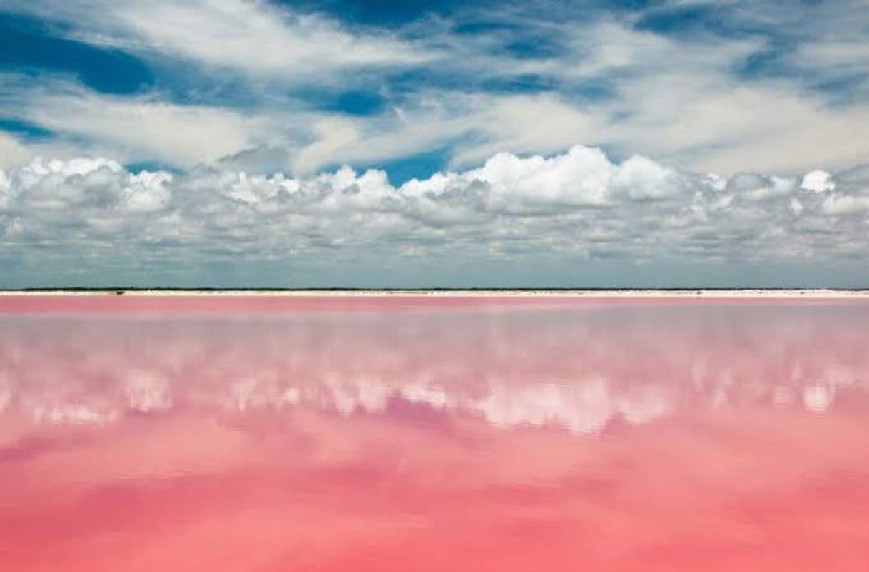
[[[0,0],[0,285],[867,285],[867,35],[866,0]]]

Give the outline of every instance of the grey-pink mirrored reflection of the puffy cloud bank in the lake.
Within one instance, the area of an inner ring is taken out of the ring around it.
[[[869,389],[858,306],[648,306],[218,319],[0,319],[0,409],[105,423],[177,407],[384,414],[594,433],[685,408],[823,412]]]

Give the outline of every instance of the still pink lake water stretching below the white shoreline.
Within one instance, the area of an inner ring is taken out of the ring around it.
[[[869,302],[0,297],[0,569],[869,569]]]

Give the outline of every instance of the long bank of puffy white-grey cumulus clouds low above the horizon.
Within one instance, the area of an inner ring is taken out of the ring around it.
[[[403,256],[756,263],[869,253],[869,176],[697,174],[575,146],[502,153],[396,188],[381,170],[308,178],[198,168],[132,173],[104,158],[0,170],[0,244],[149,263]],[[862,263],[862,262],[861,262]]]

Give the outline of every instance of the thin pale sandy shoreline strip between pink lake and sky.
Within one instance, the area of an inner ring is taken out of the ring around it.
[[[617,298],[869,298],[869,289],[87,289],[0,290],[0,296],[509,296]]]

